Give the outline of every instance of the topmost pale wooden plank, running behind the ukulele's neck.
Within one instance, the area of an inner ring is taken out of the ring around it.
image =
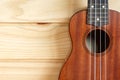
[[[120,11],[120,1],[110,0],[110,8]],[[0,22],[68,22],[87,0],[1,0]]]

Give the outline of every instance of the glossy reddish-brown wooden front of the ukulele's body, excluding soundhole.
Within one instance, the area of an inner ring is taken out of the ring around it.
[[[101,56],[93,56],[86,48],[85,38],[95,27],[86,24],[86,12],[80,11],[71,19],[73,49],[59,80],[120,80],[120,14],[109,11],[109,24],[101,29],[109,34],[110,46]]]

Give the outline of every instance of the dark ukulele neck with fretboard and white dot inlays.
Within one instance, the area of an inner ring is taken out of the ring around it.
[[[88,0],[87,24],[102,27],[108,24],[108,0]]]

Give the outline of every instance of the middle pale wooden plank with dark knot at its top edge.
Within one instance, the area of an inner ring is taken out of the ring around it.
[[[0,24],[0,59],[65,59],[68,24]]]

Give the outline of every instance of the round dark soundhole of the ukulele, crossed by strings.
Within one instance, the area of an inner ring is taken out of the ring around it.
[[[110,37],[100,29],[92,30],[86,38],[86,46],[91,53],[103,53],[110,44]]]

